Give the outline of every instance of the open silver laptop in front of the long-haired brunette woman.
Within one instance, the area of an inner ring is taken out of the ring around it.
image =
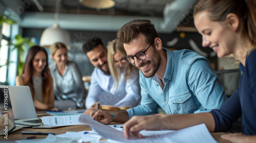
[[[0,85],[0,88],[5,86]],[[7,86],[16,124],[40,126],[29,86]]]

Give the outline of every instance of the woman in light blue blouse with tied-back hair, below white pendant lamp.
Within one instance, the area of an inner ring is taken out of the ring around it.
[[[63,43],[57,42],[50,46],[53,63],[50,66],[53,78],[55,103],[60,110],[82,108],[84,86],[82,75],[77,64],[68,61],[68,49]]]

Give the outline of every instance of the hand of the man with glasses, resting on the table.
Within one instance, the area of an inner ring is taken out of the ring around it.
[[[92,112],[90,116],[93,117],[93,120],[96,120],[102,124],[110,124],[113,121],[113,116],[110,113],[102,110]]]

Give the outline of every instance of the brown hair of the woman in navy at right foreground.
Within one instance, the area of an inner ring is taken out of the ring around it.
[[[256,2],[255,0],[200,0],[194,8],[194,16],[201,11],[209,12],[212,21],[224,22],[229,13],[239,18],[239,32],[256,46]]]

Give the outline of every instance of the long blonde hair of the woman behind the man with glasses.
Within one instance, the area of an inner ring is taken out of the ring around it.
[[[126,52],[124,50],[123,44],[118,42],[116,39],[112,40],[109,43],[109,49],[108,49],[108,64],[109,64],[109,69],[110,69],[110,73],[114,79],[114,87],[118,87],[118,83],[121,77],[121,69],[119,66],[116,65],[116,63],[114,62],[114,54],[115,53],[120,53],[123,57],[126,55]],[[125,81],[127,81],[128,79],[130,79],[132,73],[134,70],[137,70],[137,68],[135,68],[132,64],[127,65],[125,70],[125,74],[124,74],[124,78]]]

